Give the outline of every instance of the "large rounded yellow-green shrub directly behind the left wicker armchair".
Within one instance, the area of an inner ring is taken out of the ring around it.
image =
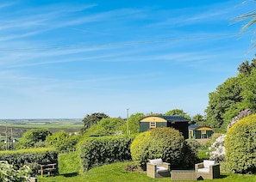
[[[134,161],[140,161],[144,170],[150,159],[162,158],[171,163],[172,168],[191,167],[196,160],[180,132],[167,127],[140,133],[131,145],[131,155]]]

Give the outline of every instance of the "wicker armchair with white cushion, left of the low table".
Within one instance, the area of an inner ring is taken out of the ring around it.
[[[171,176],[170,163],[163,162],[162,159],[150,160],[147,162],[147,176],[156,179]]]

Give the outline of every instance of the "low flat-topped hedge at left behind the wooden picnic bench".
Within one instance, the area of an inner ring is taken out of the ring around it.
[[[17,168],[28,165],[36,173],[39,164],[58,164],[58,152],[49,148],[0,151],[0,161],[8,161]]]

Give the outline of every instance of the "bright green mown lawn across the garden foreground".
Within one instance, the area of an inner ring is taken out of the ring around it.
[[[117,162],[114,164],[104,165],[101,167],[94,167],[86,173],[82,173],[81,162],[78,153],[69,153],[59,155],[59,175],[55,177],[43,177],[38,176],[39,181],[42,182],[119,182],[119,181],[168,181],[170,178],[163,179],[151,179],[147,177],[145,172],[128,172],[125,167],[130,164],[131,161]],[[214,182],[254,182],[256,181],[256,175],[240,175],[240,174],[229,174],[222,173],[220,179],[212,179],[203,181],[214,181]],[[190,181],[188,181],[190,182]]]

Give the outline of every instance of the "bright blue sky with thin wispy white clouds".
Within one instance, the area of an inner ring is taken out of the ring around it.
[[[242,2],[1,1],[0,118],[204,114],[254,58]]]

